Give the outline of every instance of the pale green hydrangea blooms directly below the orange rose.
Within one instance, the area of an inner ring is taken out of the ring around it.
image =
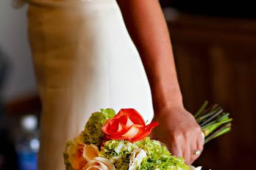
[[[117,170],[128,169],[131,152],[140,148],[147,153],[138,170],[163,169],[163,170],[188,170],[183,158],[175,157],[167,151],[165,146],[161,146],[159,141],[150,140],[149,137],[144,140],[131,143],[125,140],[109,140],[103,143],[100,156],[111,160]]]

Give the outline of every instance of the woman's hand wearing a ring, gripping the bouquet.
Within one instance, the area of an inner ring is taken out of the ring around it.
[[[202,132],[194,116],[183,107],[166,108],[155,116],[160,126],[152,132],[152,138],[162,141],[170,152],[177,157],[185,158],[190,165],[199,155],[191,153],[203,150]]]

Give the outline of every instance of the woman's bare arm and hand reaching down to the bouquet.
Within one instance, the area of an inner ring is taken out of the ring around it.
[[[117,0],[126,27],[141,55],[152,90],[155,120],[161,123],[153,137],[192,163],[202,151],[202,134],[183,107],[169,32],[158,0]]]

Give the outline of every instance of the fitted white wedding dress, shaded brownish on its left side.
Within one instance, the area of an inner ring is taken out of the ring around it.
[[[115,0],[30,0],[29,40],[42,98],[40,170],[63,170],[65,143],[100,108],[153,118],[141,58]]]

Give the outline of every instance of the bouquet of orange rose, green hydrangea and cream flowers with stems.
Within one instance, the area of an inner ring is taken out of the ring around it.
[[[196,113],[202,127],[205,143],[228,132],[230,121],[218,105]],[[117,115],[111,108],[92,113],[84,130],[68,141],[64,151],[67,170],[189,170],[183,158],[175,157],[159,141],[150,140],[152,129],[158,122],[145,123],[133,108],[121,109]]]

